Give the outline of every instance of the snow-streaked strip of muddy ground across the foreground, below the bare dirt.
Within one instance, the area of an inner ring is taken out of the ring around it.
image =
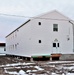
[[[0,67],[4,67],[5,73],[10,75],[74,75],[74,61],[51,61],[40,65],[35,62],[24,62],[0,65]]]

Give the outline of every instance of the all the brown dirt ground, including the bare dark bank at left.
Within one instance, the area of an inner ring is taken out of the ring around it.
[[[9,64],[16,64],[16,63],[34,63],[34,64],[27,64],[27,65],[16,65],[15,67],[13,65]],[[20,70],[23,70],[26,72],[27,75],[53,75],[53,73],[56,73],[57,75],[66,75],[67,72],[69,73],[74,73],[74,68],[72,69],[67,69],[63,67],[70,67],[74,66],[74,62],[71,63],[52,63],[48,64],[50,61],[26,61],[23,59],[17,59],[17,58],[12,58],[12,57],[7,57],[7,56],[0,56],[0,75],[17,75],[17,74],[9,74],[8,72],[19,72]],[[43,70],[38,70],[35,67],[40,67]],[[54,75],[56,75],[54,74]],[[19,74],[22,75],[22,74]]]

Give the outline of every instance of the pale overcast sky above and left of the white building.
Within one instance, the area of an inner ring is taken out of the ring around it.
[[[2,14],[33,17],[52,10],[74,20],[74,0],[0,0],[0,42],[5,42],[5,36],[26,20]]]

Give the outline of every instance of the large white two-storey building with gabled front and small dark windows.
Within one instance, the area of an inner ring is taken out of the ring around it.
[[[74,54],[73,21],[57,11],[30,19],[6,36],[6,54]]]

